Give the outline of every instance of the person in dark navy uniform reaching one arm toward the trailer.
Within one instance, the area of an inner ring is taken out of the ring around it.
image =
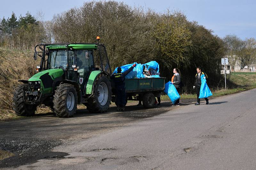
[[[123,73],[121,72],[121,67],[118,67],[117,73],[112,74],[110,77],[115,82],[117,111],[124,111],[126,104],[125,76],[130,73],[135,66],[136,64],[133,64],[132,67]]]

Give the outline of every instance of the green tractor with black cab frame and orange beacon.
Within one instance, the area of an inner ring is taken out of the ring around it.
[[[72,117],[77,104],[90,112],[108,110],[112,73],[106,47],[100,43],[40,44],[34,59],[41,58],[36,73],[14,91],[12,108],[19,116],[33,116],[39,104],[58,117]]]

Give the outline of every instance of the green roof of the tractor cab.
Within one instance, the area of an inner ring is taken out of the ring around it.
[[[87,49],[87,50],[92,50],[92,49],[97,49],[98,44],[45,44],[45,47],[48,50],[54,50],[54,49],[66,49],[68,48],[73,48],[76,50],[82,50],[82,49]]]

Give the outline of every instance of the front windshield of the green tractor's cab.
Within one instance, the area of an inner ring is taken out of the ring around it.
[[[50,51],[48,62],[49,68],[59,68],[68,66],[68,58],[70,60],[70,64],[72,65],[74,62],[74,51],[66,51],[66,50],[58,50],[58,51]]]

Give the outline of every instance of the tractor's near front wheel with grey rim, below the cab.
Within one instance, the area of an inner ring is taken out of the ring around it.
[[[60,84],[53,95],[53,109],[58,117],[72,117],[77,109],[77,93],[72,84]]]

